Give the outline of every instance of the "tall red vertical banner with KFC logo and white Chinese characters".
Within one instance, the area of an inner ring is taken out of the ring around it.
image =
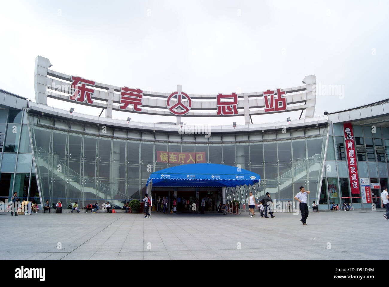
[[[352,125],[350,123],[343,124],[343,129],[346,142],[345,151],[347,157],[347,165],[349,166],[351,194],[359,194],[358,169],[355,153],[354,136],[352,134]]]

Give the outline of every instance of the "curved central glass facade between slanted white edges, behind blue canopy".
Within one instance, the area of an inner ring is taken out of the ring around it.
[[[182,157],[203,152],[207,163],[240,165],[261,176],[262,196],[269,192],[276,200],[293,201],[300,186],[311,191],[310,202],[320,192],[327,128],[305,129],[300,137],[279,140],[223,133],[208,141],[204,135],[186,138],[116,129],[105,133],[102,128],[96,132],[90,126],[57,124],[37,115],[28,119],[42,200],[77,201],[80,206],[110,201],[121,206],[123,201],[141,199],[150,173],[182,164],[172,156],[162,161],[161,152]]]

